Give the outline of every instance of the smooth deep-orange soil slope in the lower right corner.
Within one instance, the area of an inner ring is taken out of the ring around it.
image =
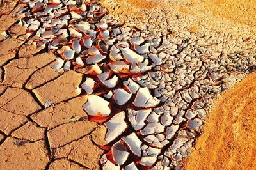
[[[185,169],[256,169],[256,74],[223,94]]]

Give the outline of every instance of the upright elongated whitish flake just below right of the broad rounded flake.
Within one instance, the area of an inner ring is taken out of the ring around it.
[[[127,128],[127,123],[124,121],[125,113],[119,112],[115,116],[113,116],[108,122],[105,123],[106,128],[108,128],[108,132],[106,134],[105,140],[110,143],[120,134],[122,134]]]

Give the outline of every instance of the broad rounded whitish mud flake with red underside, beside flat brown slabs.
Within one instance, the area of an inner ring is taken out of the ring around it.
[[[100,114],[106,117],[111,113],[109,102],[97,95],[89,95],[87,102],[83,105],[83,109],[91,116]]]

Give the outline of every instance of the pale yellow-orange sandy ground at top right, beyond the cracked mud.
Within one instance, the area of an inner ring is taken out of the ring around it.
[[[245,37],[256,37],[256,3],[252,0],[100,1],[110,9],[113,8],[113,2],[120,7],[115,8],[111,13],[120,15],[124,20],[134,17],[140,23],[140,20],[148,20],[147,17],[152,15],[169,20],[171,29],[177,24],[179,30],[205,31],[204,29],[214,29],[216,32],[222,31]]]

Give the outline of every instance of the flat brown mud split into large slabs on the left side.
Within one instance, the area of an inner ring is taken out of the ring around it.
[[[55,72],[52,52],[24,45],[26,29],[11,17],[19,6],[0,11],[1,31],[12,34],[0,42],[0,169],[99,169],[104,138],[95,134],[104,127],[86,120],[86,97],[76,89],[82,75]],[[52,105],[45,109],[47,100]]]

